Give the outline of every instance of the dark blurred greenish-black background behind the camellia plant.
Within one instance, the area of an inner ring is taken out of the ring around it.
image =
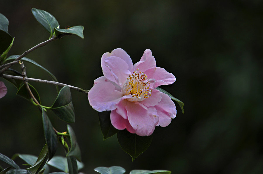
[[[124,49],[136,63],[151,49],[157,66],[175,75],[163,86],[185,104],[182,114],[165,128],[157,127],[153,142],[139,157],[131,157],[117,137],[103,141],[97,112],[83,93],[71,90],[73,127],[85,164],[84,173],[98,166],[165,169],[172,173],[263,173],[263,2],[240,1],[1,1],[15,37],[10,54],[48,39],[31,9],[51,13],[65,26],[84,26],[84,39],[67,36],[27,55],[52,72],[59,82],[90,89],[102,76],[101,56]],[[28,63],[27,75],[50,79]],[[14,66],[20,70],[18,66]],[[0,152],[38,155],[45,144],[37,107],[16,95],[4,79],[7,95],[0,100]],[[56,98],[52,85],[36,84],[42,104]],[[48,112],[58,131],[66,123]],[[59,146],[56,155],[64,155]],[[23,163],[16,159],[17,163]]]

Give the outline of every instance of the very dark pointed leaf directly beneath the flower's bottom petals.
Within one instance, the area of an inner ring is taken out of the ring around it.
[[[150,146],[153,134],[150,136],[139,136],[131,134],[124,129],[118,131],[117,139],[121,148],[131,156],[133,161]]]

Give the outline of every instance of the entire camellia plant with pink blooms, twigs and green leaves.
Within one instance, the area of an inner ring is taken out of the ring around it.
[[[21,55],[11,56],[8,56],[8,52],[13,45],[14,38],[8,33],[8,19],[0,14],[0,100],[5,100],[3,97],[8,92],[4,83],[10,82],[17,88],[18,96],[24,97],[38,107],[42,115],[46,144],[38,157],[15,154],[10,159],[0,153],[0,160],[8,164],[7,168],[0,166],[1,174],[46,174],[49,173],[49,166],[57,168],[60,171],[55,172],[57,174],[75,174],[83,168],[81,150],[72,127],[67,125],[65,132],[58,132],[52,126],[46,113],[47,110],[51,110],[61,120],[74,123],[75,113],[70,89],[78,90],[87,95],[87,103],[89,102],[91,107],[98,111],[100,128],[104,139],[117,134],[121,148],[131,156],[132,161],[149,147],[155,127],[166,127],[176,117],[177,110],[172,100],[176,101],[182,112],[184,112],[184,104],[180,100],[159,88],[159,86],[174,83],[176,78],[164,68],[156,66],[155,58],[152,56],[150,49],[146,49],[141,60],[135,64],[121,48],[104,53],[101,58],[101,68],[104,76],[95,79],[94,86],[90,90],[59,83],[56,77],[46,68],[25,56],[49,42],[68,35],[77,35],[83,39],[84,27],[67,26],[65,29],[61,29],[56,18],[50,13],[32,8],[32,14],[49,32],[50,37],[48,40],[26,50]],[[52,81],[27,77],[24,63],[31,63],[46,71]],[[15,64],[20,65],[20,69],[12,69],[12,65]],[[5,81],[3,81],[4,79]],[[52,106],[44,106],[40,102],[40,96],[37,89],[30,84],[31,81],[53,84],[56,87],[58,95]],[[64,148],[65,157],[54,156],[58,143]],[[30,167],[20,168],[14,161],[17,157],[23,159]],[[122,174],[125,172],[125,169],[119,166],[98,167],[94,170],[101,174]],[[165,170],[133,170],[130,173],[169,174],[171,172]]]

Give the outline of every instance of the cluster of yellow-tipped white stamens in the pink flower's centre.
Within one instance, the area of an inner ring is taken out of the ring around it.
[[[131,98],[127,99],[131,102],[142,101],[150,97],[152,92],[152,90],[150,90],[150,82],[147,80],[146,74],[138,71],[139,69],[129,75],[122,87],[122,93],[125,95],[132,95]]]

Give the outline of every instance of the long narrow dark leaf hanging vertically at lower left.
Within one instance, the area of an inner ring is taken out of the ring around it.
[[[49,160],[55,155],[55,152],[57,150],[58,140],[56,133],[53,129],[53,126],[46,115],[46,112],[44,111],[44,108],[42,108],[42,120],[43,120],[43,128],[44,128],[44,134],[46,139],[46,144],[49,149]]]

